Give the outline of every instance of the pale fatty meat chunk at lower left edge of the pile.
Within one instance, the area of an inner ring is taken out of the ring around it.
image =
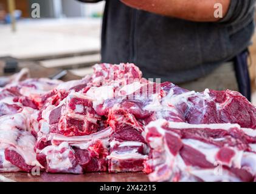
[[[27,112],[27,113],[26,113]],[[40,166],[33,150],[35,137],[29,131],[27,116],[32,109],[0,118],[0,172],[31,172]]]

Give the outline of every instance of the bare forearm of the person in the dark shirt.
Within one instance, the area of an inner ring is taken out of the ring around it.
[[[222,5],[223,16],[232,0],[121,0],[126,5],[159,15],[190,21],[218,21],[214,15],[217,3]]]

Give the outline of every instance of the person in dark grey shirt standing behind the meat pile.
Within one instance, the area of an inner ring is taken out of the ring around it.
[[[254,6],[255,0],[106,0],[102,62],[133,62],[145,78],[199,92],[237,90],[250,99]]]

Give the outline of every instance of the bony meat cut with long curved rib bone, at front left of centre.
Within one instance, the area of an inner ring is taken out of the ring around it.
[[[50,173],[105,172],[111,134],[110,127],[85,136],[41,134],[36,143],[36,158]]]

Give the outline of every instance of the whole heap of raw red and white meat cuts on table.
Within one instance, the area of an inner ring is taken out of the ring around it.
[[[97,64],[69,82],[22,79],[0,89],[0,172],[256,181],[256,107],[238,92],[150,82],[134,64]]]

